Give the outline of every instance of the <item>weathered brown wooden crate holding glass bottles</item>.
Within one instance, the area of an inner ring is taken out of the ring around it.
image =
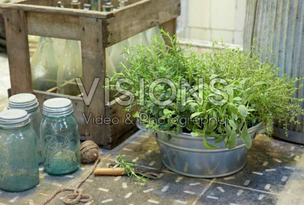
[[[68,7],[70,1],[61,1]],[[100,1],[103,4],[103,1]],[[117,2],[117,1],[112,1]],[[105,148],[115,147],[132,133],[134,125],[125,124],[124,107],[111,101],[104,105],[105,48],[159,25],[170,34],[176,30],[180,0],[129,0],[130,5],[110,12],[56,8],[57,0],[26,0],[0,5],[0,35],[6,36],[10,66],[11,92],[34,93],[40,105],[52,97],[72,100],[82,139],[93,140]],[[82,1],[82,4],[89,1]],[[117,6],[117,5],[114,5]],[[80,40],[82,48],[83,84],[88,92],[94,78],[100,77],[91,104],[81,97],[32,89],[28,34]],[[119,118],[120,123],[96,125],[85,123],[83,114]],[[132,113],[132,112],[131,112]]]

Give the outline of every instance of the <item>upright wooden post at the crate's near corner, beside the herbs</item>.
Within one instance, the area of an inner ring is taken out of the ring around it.
[[[105,48],[103,47],[102,20],[80,17],[82,25],[81,47],[83,64],[83,85],[89,90],[94,79],[100,78],[99,84],[89,106],[85,106],[85,115],[102,117],[105,116],[104,106],[104,77]],[[98,29],[96,29],[98,28]],[[105,126],[90,121],[86,127],[86,138],[98,144],[106,144]]]

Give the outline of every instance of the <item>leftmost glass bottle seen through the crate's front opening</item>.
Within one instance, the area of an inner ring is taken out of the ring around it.
[[[56,87],[58,59],[50,37],[40,37],[30,66],[34,90],[47,91]]]

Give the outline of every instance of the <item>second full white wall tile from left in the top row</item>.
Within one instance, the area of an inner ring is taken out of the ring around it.
[[[211,28],[234,30],[235,11],[236,0],[212,0],[210,17]]]

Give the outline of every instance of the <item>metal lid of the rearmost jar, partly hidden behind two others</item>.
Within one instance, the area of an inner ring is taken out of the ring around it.
[[[9,98],[9,109],[29,111],[39,106],[35,95],[30,93],[15,94]]]

